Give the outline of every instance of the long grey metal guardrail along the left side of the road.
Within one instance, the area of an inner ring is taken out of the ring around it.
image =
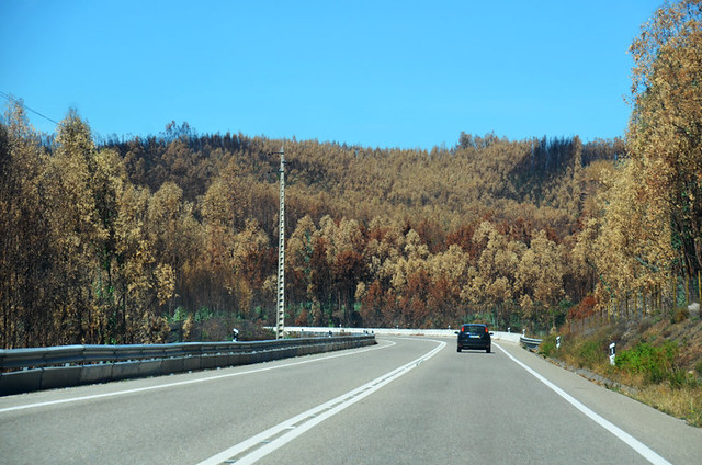
[[[247,365],[375,344],[373,334],[256,342],[64,345],[0,350],[0,396]]]

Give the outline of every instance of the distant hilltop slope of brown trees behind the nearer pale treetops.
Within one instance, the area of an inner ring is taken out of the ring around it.
[[[577,137],[544,136],[511,141],[462,133],[451,149],[427,151],[242,134],[197,135],[186,123],[171,123],[158,136],[102,144],[118,150],[135,184],[156,192],[165,182],[174,182],[195,204],[226,167],[236,165],[247,185],[260,188],[250,200],[259,205],[270,202],[265,188],[276,182],[279,159],[269,154],[284,146],[293,225],[309,214],[316,220],[330,215],[364,222],[376,216],[410,222],[440,216],[445,225],[486,215],[505,220],[521,216],[545,226],[548,218],[539,212],[541,207],[552,209],[546,216],[556,211],[575,220],[576,212],[569,208],[586,193],[584,185],[574,192],[574,182],[582,182],[574,181],[576,163],[585,169],[624,154],[621,139],[581,144]],[[272,238],[274,228],[261,224]],[[561,235],[570,229],[563,228]]]

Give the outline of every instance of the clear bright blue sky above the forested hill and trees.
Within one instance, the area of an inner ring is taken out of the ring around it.
[[[629,45],[661,3],[0,0],[0,91],[103,136],[176,121],[370,147],[610,138]]]

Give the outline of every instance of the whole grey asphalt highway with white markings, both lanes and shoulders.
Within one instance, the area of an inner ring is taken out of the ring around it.
[[[700,464],[702,430],[508,342],[370,348],[0,398],[2,464]]]

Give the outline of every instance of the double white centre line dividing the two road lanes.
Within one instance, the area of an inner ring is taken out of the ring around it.
[[[437,345],[434,349],[427,352],[426,354],[421,355],[420,358],[415,359],[411,362],[406,363],[405,365],[398,368],[395,368],[382,376],[378,376],[377,378],[362,386],[359,386],[355,389],[352,389],[346,394],[342,394],[339,397],[336,397],[325,404],[321,404],[293,418],[290,418],[272,428],[269,428],[268,430],[262,431],[259,434],[247,439],[246,441],[242,441],[236,445],[233,445],[231,447],[218,453],[217,455],[213,455],[212,457],[200,462],[200,464],[197,465],[220,464],[234,456],[240,455],[241,453],[246,452],[251,447],[254,447],[256,445],[263,443],[268,439],[275,436],[276,434],[280,434],[275,439],[271,440],[270,442],[265,442],[264,445],[253,450],[251,453],[240,458],[237,458],[236,464],[242,465],[242,464],[252,464],[257,462],[258,460],[264,457],[271,452],[287,444],[290,441],[294,440],[295,438],[304,434],[305,432],[316,427],[317,424],[321,423],[326,419],[333,417],[335,415],[339,413],[347,407],[358,402],[359,400],[365,398],[366,396],[370,396],[371,394],[378,390],[383,386],[392,383],[393,381],[397,379],[404,374],[410,372],[415,367],[419,366],[420,363],[428,361],[429,359],[434,356],[437,353],[439,353],[439,351],[441,351],[444,347],[446,347],[446,343],[443,341],[435,341],[435,340],[430,340],[430,341],[438,342],[439,345]],[[302,424],[298,424],[302,421],[304,422]],[[293,426],[296,426],[296,427],[291,428]]]

